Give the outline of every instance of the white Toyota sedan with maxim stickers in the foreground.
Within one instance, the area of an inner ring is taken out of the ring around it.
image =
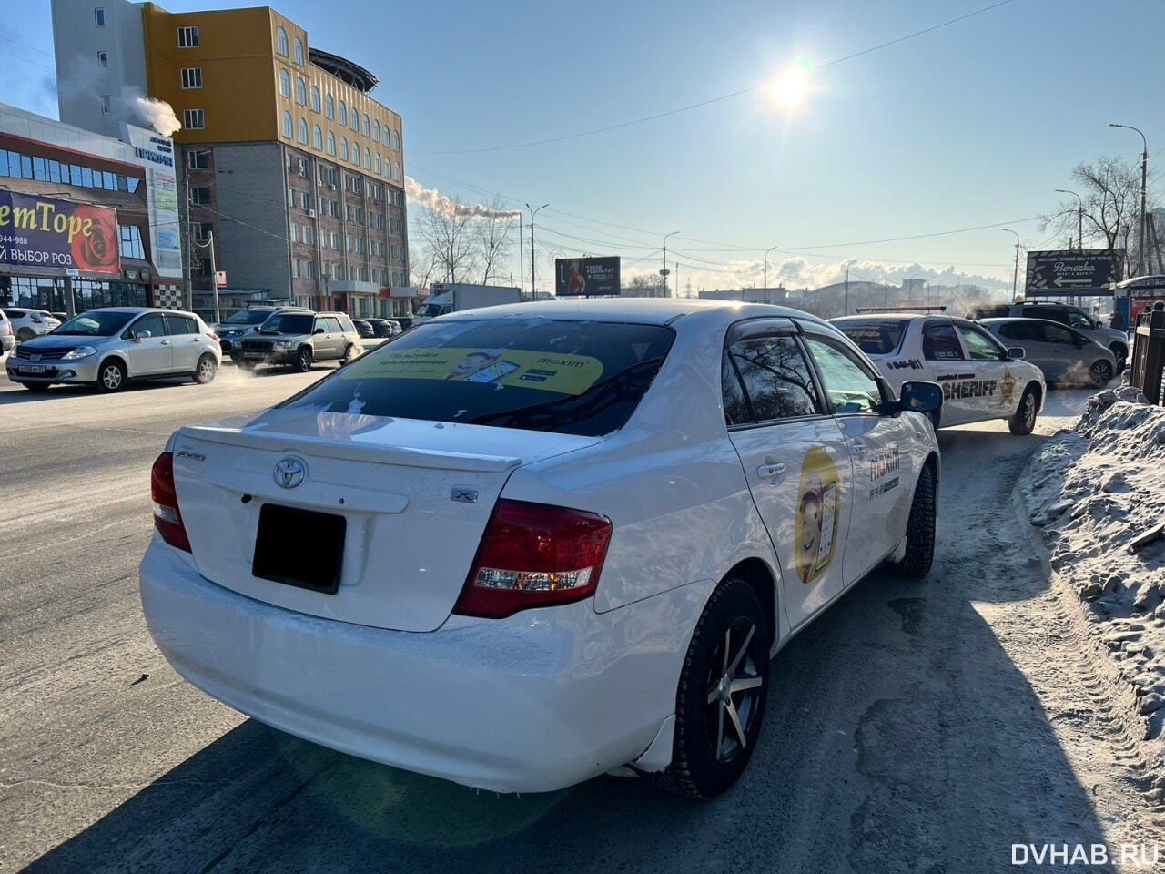
[[[770,656],[884,561],[930,569],[940,403],[795,310],[451,313],[174,434],[146,619],[195,685],[336,749],[711,797],[756,745]]]

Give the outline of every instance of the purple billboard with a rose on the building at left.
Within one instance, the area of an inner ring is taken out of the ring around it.
[[[0,191],[0,265],[120,273],[118,211]]]

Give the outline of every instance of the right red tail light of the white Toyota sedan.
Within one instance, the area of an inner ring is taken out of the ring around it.
[[[500,500],[453,612],[502,619],[594,594],[610,522],[594,513]]]

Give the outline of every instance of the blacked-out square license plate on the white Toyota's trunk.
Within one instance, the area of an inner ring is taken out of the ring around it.
[[[344,570],[347,520],[332,513],[264,503],[259,508],[255,557],[260,579],[336,594]]]

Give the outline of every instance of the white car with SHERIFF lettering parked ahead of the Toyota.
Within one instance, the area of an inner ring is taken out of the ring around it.
[[[831,319],[897,389],[903,380],[942,386],[935,428],[1007,420],[1011,434],[1031,434],[1047,388],[1038,367],[1019,359],[989,331],[939,313],[877,312]]]

